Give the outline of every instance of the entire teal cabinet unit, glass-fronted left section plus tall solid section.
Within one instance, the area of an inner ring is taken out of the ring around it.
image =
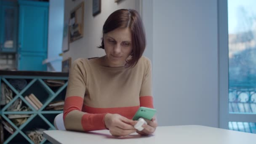
[[[16,53],[18,70],[47,70],[48,11],[48,2],[0,0],[0,53]]]

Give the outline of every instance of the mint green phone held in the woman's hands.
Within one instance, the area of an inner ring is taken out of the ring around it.
[[[156,109],[151,109],[148,107],[140,107],[138,111],[135,113],[135,115],[133,116],[133,120],[138,120],[140,117],[151,120],[156,112],[157,112]]]

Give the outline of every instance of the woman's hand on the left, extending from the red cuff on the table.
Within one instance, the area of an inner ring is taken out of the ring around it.
[[[104,122],[112,136],[127,136],[136,132],[136,129],[133,127],[133,125],[136,124],[136,121],[118,114],[106,114]]]

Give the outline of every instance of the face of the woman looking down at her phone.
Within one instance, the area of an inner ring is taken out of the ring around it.
[[[128,27],[114,29],[104,34],[103,40],[107,65],[123,67],[132,51],[131,30]]]

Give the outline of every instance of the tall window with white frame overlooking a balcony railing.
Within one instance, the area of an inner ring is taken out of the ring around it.
[[[255,6],[256,0],[219,0],[220,127],[249,133],[256,133]]]

